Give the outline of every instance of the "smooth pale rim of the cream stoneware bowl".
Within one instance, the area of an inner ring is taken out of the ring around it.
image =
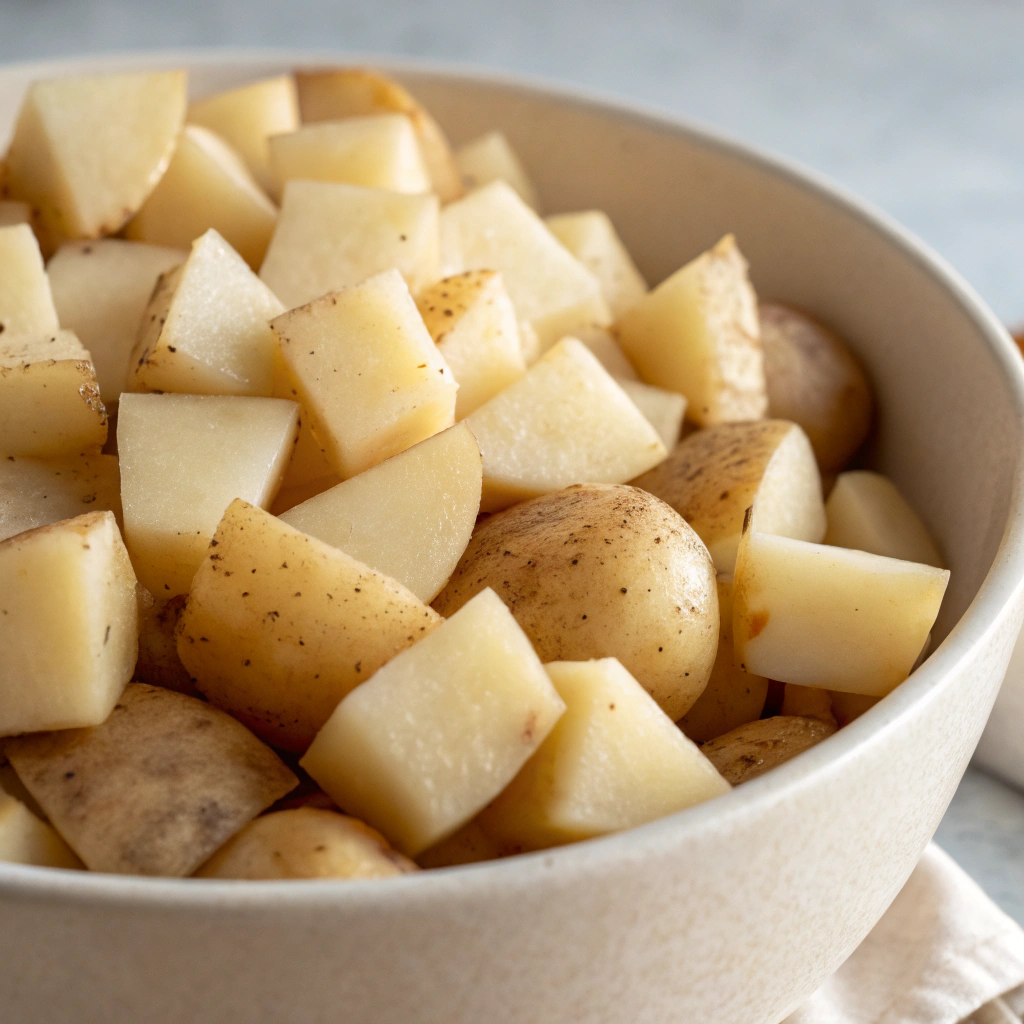
[[[1024,438],[1024,360],[995,314],[944,258],[888,214],[827,176],[791,158],[742,142],[696,120],[537,75],[394,54],[330,49],[200,47],[5,62],[0,63],[0,88],[8,75],[28,73],[33,77],[47,77],[82,74],[99,68],[135,71],[179,66],[226,66],[243,71],[247,66],[267,62],[288,68],[349,63],[380,68],[399,77],[410,73],[452,79],[467,87],[481,84],[511,88],[555,99],[570,109],[612,115],[665,133],[684,135],[698,146],[724,153],[809,190],[881,234],[950,295],[974,323],[1009,382],[1019,429]],[[395,901],[404,906],[411,903],[423,905],[456,893],[464,895],[467,890],[485,893],[495,886],[532,889],[542,883],[558,884],[566,877],[592,876],[614,863],[641,858],[646,851],[671,847],[685,837],[699,833],[713,819],[718,827],[727,826],[730,818],[745,815],[751,805],[770,806],[781,802],[786,799],[788,791],[808,782],[819,771],[841,767],[843,762],[864,754],[869,743],[883,741],[887,733],[899,727],[912,708],[928,699],[939,698],[943,681],[974,655],[1004,614],[1010,613],[1008,609],[1013,607],[1024,581],[1024,443],[1012,471],[1010,511],[995,557],[974,599],[938,648],[884,701],[841,729],[827,742],[745,783],[738,792],[725,794],[623,833],[498,861],[414,872],[389,880],[389,885],[331,879],[255,882],[147,878],[0,863],[0,898],[32,899],[48,904],[130,903],[132,906],[180,910],[204,906],[221,909],[286,906],[312,909],[326,901],[330,901],[334,909],[380,908]],[[722,803],[723,800],[726,802]]]

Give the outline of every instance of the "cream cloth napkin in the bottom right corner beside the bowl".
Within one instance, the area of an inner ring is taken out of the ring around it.
[[[850,958],[784,1024],[1020,1024],[1024,930],[934,844]]]

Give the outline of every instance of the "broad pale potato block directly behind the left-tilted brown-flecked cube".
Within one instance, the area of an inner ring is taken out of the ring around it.
[[[436,196],[289,181],[260,276],[289,308],[397,269],[418,292],[439,276]]]

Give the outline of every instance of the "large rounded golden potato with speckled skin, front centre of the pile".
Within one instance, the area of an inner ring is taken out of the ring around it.
[[[673,720],[718,648],[715,567],[668,505],[588,483],[486,519],[434,601],[443,615],[492,587],[544,662],[617,657]]]

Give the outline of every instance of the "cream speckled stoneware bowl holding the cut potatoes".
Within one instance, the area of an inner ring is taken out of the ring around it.
[[[40,76],[184,66],[201,93],[330,60],[193,53],[7,68],[0,135]],[[504,129],[549,210],[607,210],[651,281],[732,230],[762,295],[851,340],[879,397],[878,466],[952,568],[937,649],[873,710],[769,775],[549,853],[387,883],[0,865],[0,1019],[778,1021],[902,886],[1006,669],[1024,606],[1020,358],[941,261],[811,174],[564,89],[385,63],[457,142]]]

